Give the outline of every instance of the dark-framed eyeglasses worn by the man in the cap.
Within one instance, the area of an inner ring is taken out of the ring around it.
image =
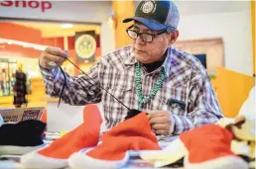
[[[133,25],[126,29],[128,36],[133,40],[136,40],[138,37],[140,37],[143,42],[153,42],[154,38],[157,36],[167,33],[167,30],[162,30],[157,34],[138,33],[137,31],[130,30],[132,27]]]

